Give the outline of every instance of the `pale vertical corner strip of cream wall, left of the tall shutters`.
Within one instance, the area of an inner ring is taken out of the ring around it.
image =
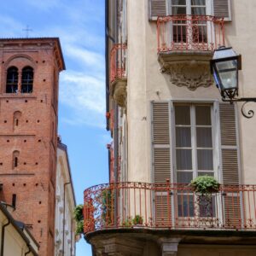
[[[145,145],[148,141],[146,98],[146,30],[148,15],[146,1],[127,1],[128,31],[128,170],[130,181],[148,181],[149,158]]]

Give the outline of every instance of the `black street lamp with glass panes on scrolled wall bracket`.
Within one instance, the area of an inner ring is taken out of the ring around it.
[[[214,51],[211,60],[211,72],[224,102],[245,102],[241,113],[246,118],[253,117],[253,110],[245,113],[243,107],[247,102],[256,102],[256,98],[238,98],[238,70],[241,70],[241,55],[232,47],[219,47]]]

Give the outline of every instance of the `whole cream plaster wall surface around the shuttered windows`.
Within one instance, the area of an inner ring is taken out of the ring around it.
[[[160,73],[157,60],[156,22],[148,21],[148,0],[127,1],[128,30],[128,167],[129,181],[151,182],[151,111],[150,102],[177,99],[220,100],[215,85],[208,88],[188,90],[170,82],[167,74]],[[256,97],[256,2],[254,0],[232,1],[232,21],[225,22],[226,45],[242,55],[240,96]],[[157,95],[156,92],[159,92]],[[254,166],[256,157],[256,116],[245,119],[238,107],[241,146],[241,183],[256,183]],[[256,110],[256,104],[251,104]],[[255,111],[256,112],[256,111]]]

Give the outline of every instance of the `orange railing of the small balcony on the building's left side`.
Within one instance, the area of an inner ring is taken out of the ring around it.
[[[126,78],[126,44],[114,44],[110,52],[110,83]]]

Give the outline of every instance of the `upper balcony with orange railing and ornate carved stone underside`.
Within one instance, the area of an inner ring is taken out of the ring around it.
[[[172,15],[157,20],[158,60],[172,84],[189,90],[213,84],[209,61],[224,45],[224,19],[207,15]]]

